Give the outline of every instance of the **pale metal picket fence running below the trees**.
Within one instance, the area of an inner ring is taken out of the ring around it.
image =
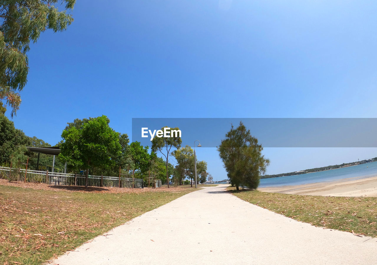
[[[18,173],[20,171],[20,173]],[[25,176],[26,172],[26,176]],[[34,182],[34,183],[46,183],[49,185],[74,185],[74,186],[85,186],[85,176],[75,175],[68,173],[58,173],[58,172],[46,172],[37,170],[25,170],[17,168],[6,168],[0,167],[0,178],[11,179],[21,181],[21,182]],[[26,177],[26,180],[25,180]],[[47,177],[47,181],[46,181]],[[132,188],[133,183],[135,188],[143,188],[143,180],[135,178],[120,179],[117,177],[101,177],[101,176],[88,176],[88,186],[91,187],[119,187],[119,184],[123,188]]]

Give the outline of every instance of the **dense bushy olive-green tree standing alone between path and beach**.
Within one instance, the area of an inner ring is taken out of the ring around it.
[[[236,129],[232,125],[225,137],[218,151],[228,178],[237,190],[241,185],[256,189],[261,173],[264,174],[270,164],[270,160],[262,155],[262,145],[242,122]]]

